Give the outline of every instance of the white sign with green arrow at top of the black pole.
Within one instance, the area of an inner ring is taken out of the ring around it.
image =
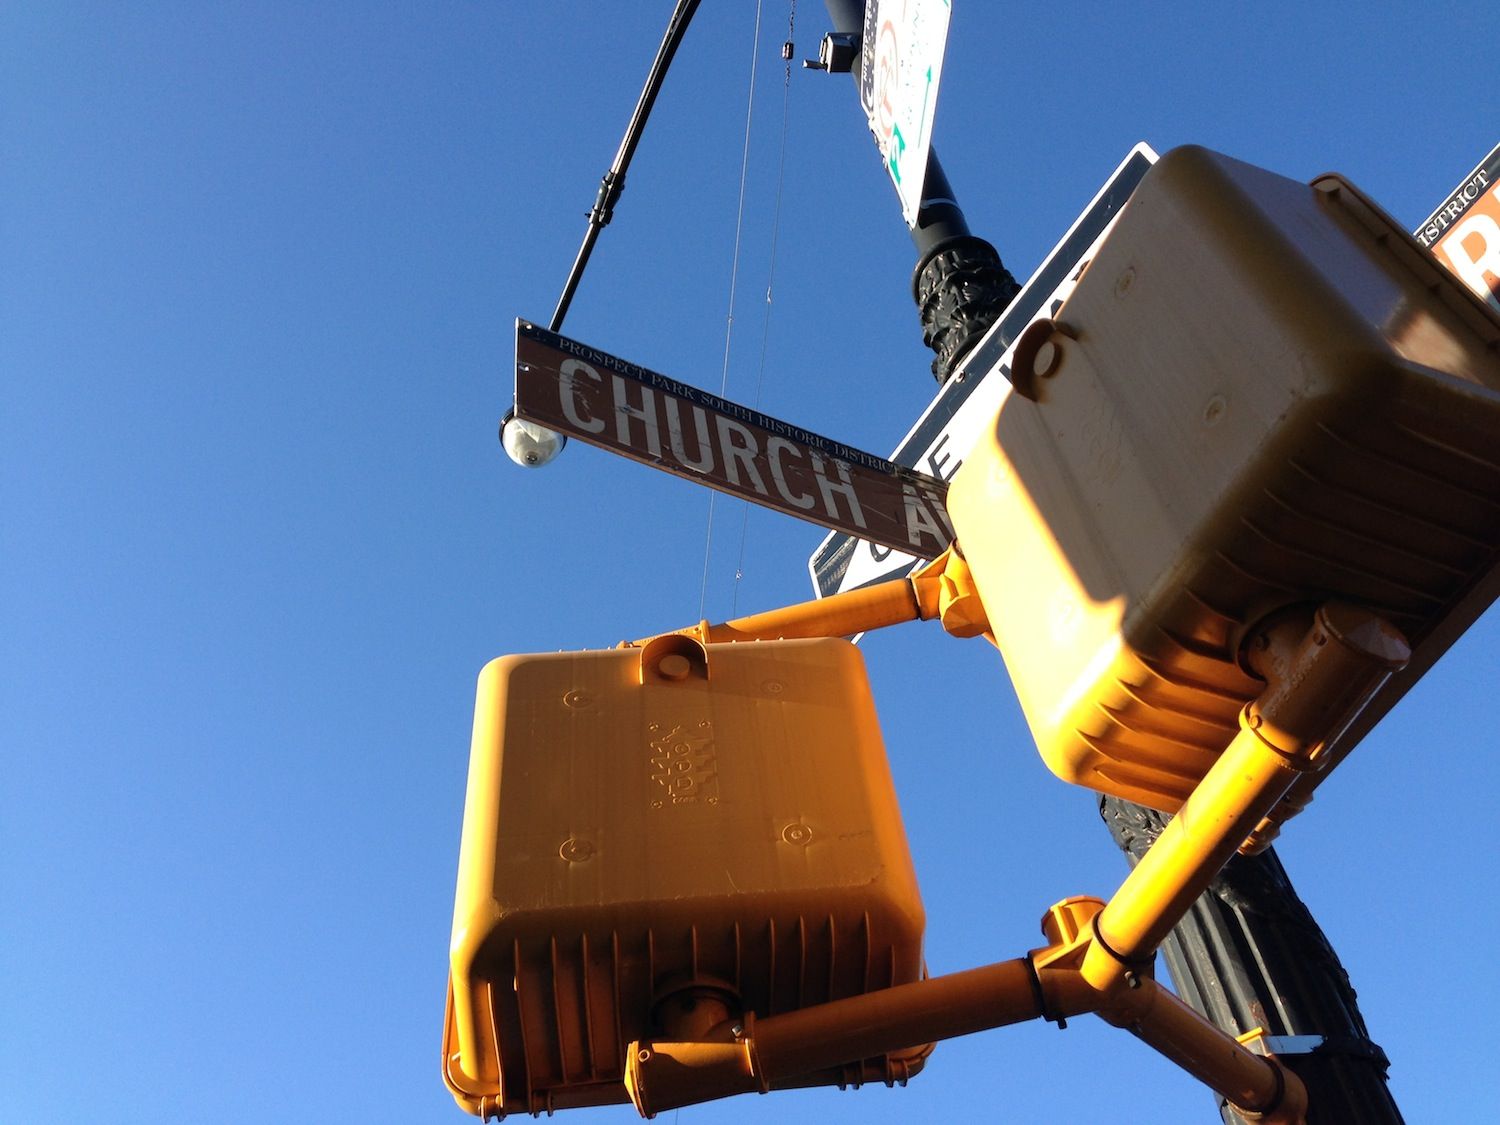
[[[948,15],[950,0],[866,4],[860,93],[908,226],[922,202]]]

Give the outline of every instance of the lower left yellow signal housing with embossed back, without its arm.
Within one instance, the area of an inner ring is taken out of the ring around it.
[[[626,1046],[674,1004],[910,982],[922,927],[848,642],[669,634],[482,674],[444,1046],[470,1112],[624,1101]]]

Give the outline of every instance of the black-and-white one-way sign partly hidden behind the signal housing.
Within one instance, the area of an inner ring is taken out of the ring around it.
[[[873,9],[874,4],[870,4]],[[868,10],[868,9],[867,9]],[[1146,171],[1156,160],[1148,144],[1137,144],[1104,183],[1098,195],[1046,261],[1022,286],[1005,314],[974,346],[963,364],[897,446],[891,460],[948,482],[974,447],[980,429],[994,417],[1010,393],[1011,348],[1026,326],[1053,315],[1066,300],[1083,267],[1092,260],[1114,218]],[[946,519],[946,516],[944,516]],[[878,543],[848,530],[828,536],[807,561],[819,597],[903,578],[918,558],[900,544]]]

